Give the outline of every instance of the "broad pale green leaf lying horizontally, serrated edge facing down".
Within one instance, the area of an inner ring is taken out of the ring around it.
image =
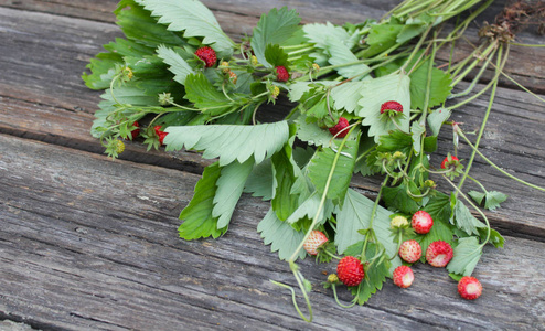
[[[220,158],[226,166],[235,160],[243,163],[254,157],[256,163],[282,149],[289,138],[286,121],[256,126],[210,125],[169,127],[164,138],[167,150],[182,148],[204,150],[204,159]]]

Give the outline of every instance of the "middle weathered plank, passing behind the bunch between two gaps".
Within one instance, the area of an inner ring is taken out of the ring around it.
[[[40,29],[42,22],[46,25]],[[0,9],[0,26],[18,31],[0,44],[0,54],[7,54],[0,60],[4,73],[0,76],[0,132],[101,153],[99,141],[88,134],[99,93],[87,89],[79,79],[79,73],[86,58],[118,34],[117,28],[10,9]],[[33,52],[24,52],[29,44],[33,45]],[[63,61],[55,61],[57,57]],[[453,118],[464,122],[468,131],[477,130],[485,103],[485,98],[475,100],[457,110]],[[276,106],[264,107],[259,115],[274,114],[272,118],[278,119],[291,107],[282,99]],[[539,102],[525,93],[500,88],[494,109],[482,141],[483,152],[507,171],[544,186],[545,151],[541,132],[545,113]],[[270,117],[263,119],[271,120]],[[450,137],[448,128],[445,128],[439,153],[434,156],[435,164],[440,163],[438,158],[452,150],[448,145]],[[467,148],[461,152],[463,158],[469,157]],[[147,152],[139,142],[127,142],[127,151],[121,158],[194,173],[201,173],[202,168],[210,163],[210,160],[202,160],[192,152]],[[504,180],[503,175],[480,161],[475,163],[473,174],[490,190],[510,193],[503,209],[489,214],[494,227],[510,234],[545,237],[542,211],[545,195],[542,192],[528,191],[524,185]],[[375,192],[378,183],[377,179],[357,177],[353,181],[354,186]],[[467,188],[474,188],[468,184]],[[442,189],[450,190],[448,186]]]

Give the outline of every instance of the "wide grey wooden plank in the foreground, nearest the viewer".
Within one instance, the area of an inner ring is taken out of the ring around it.
[[[268,281],[295,285],[256,233],[266,203],[244,196],[225,236],[183,242],[177,215],[194,174],[4,135],[0,156],[0,312],[34,328],[532,330],[545,322],[545,243],[507,237],[504,249],[487,248],[477,301],[461,300],[445,269],[418,265],[410,289],[387,281],[367,305],[345,310],[320,289],[334,265],[303,260],[314,286],[316,321],[307,324]]]

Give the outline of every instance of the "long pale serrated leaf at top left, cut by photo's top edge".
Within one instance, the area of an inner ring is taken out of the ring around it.
[[[183,36],[202,36],[203,44],[213,44],[218,57],[233,53],[235,43],[223,32],[214,14],[196,0],[137,0],[169,31],[184,31]]]

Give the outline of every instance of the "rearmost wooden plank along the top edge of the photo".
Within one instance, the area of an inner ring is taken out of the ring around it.
[[[82,18],[101,22],[115,22],[115,15],[111,11],[116,8],[118,1],[99,0],[99,1],[14,1],[0,0],[0,6],[6,8],[24,9],[39,12],[61,14],[64,17]],[[503,9],[506,1],[495,1],[488,10],[481,14],[475,21],[479,25],[483,22],[493,22],[494,17]],[[204,0],[206,4],[216,15],[222,28],[235,39],[243,35],[250,35],[252,30],[258,21],[258,18],[270,10],[271,8],[280,8],[288,6],[290,9],[296,9],[302,19],[302,23],[327,22],[343,24],[344,22],[357,23],[366,19],[380,19],[389,9],[394,8],[398,1],[364,1],[364,2],[343,2],[339,6],[336,2],[320,0],[303,0],[297,3],[290,1],[222,1],[222,0]],[[470,26],[467,31],[467,38],[472,44],[478,44],[478,29]],[[543,44],[543,39],[535,31],[526,31],[517,34],[517,42],[527,44]],[[471,52],[473,49],[467,42],[459,42],[455,49],[455,58],[461,58]],[[445,61],[448,58],[449,50],[442,50],[438,54],[438,58]],[[517,58],[516,62],[507,63],[505,72],[512,75],[519,83],[536,93],[545,93],[545,52],[536,47],[512,47],[512,58]],[[491,73],[483,76],[483,81],[491,77]],[[473,75],[469,75],[472,78]],[[514,88],[511,81],[502,78],[502,86]],[[516,87],[517,88],[517,87]]]

